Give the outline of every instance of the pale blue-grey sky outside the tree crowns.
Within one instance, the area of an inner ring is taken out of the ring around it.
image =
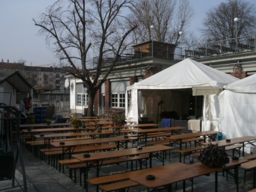
[[[176,0],[179,1],[179,0]],[[226,0],[189,0],[196,15],[188,30],[199,37],[205,12]],[[255,0],[247,0],[255,3]],[[0,62],[25,61],[29,66],[52,66],[58,63],[46,44],[45,37],[38,35],[39,27],[32,18],[38,19],[54,0],[0,0]]]

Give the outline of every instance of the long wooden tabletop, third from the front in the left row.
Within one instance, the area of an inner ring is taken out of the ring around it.
[[[108,137],[108,138],[99,138],[96,140],[76,140],[76,141],[65,141],[65,144],[60,144],[58,141],[53,141],[51,143],[52,146],[56,148],[66,148],[71,146],[79,146],[79,145],[88,145],[88,144],[99,144],[99,143],[110,143],[110,142],[118,142],[118,141],[130,141],[137,140],[135,137],[124,138],[123,135],[117,137]]]

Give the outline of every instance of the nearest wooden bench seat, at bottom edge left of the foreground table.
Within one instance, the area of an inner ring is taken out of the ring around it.
[[[135,187],[139,185],[137,182],[133,182],[132,180],[123,180],[121,182],[110,183],[107,185],[100,185],[99,188],[102,191],[110,192],[110,191],[123,191],[125,189],[129,189],[130,187]]]

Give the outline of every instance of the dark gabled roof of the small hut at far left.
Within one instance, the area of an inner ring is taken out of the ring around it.
[[[32,85],[20,74],[19,71],[1,71],[0,85],[8,82],[18,93],[30,93]]]

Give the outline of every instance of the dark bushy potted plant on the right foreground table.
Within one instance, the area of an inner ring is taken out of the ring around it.
[[[225,148],[219,147],[218,144],[210,144],[202,150],[198,160],[207,166],[222,167],[229,163],[229,156]]]

